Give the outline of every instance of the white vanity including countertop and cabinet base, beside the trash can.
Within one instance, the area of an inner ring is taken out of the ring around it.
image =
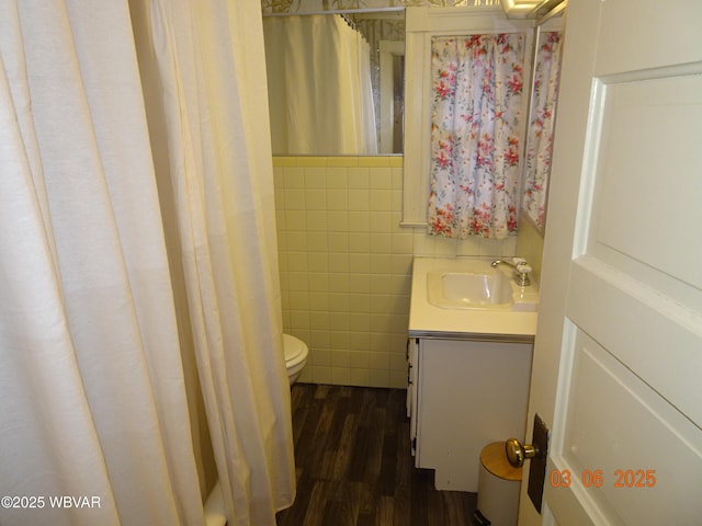
[[[415,258],[407,408],[415,466],[438,490],[477,491],[480,450],[524,439],[539,289],[512,285],[512,305],[437,305],[432,275],[489,275],[492,259]],[[451,282],[454,283],[454,282]],[[448,285],[451,287],[451,285]],[[452,290],[453,291],[453,290]]]

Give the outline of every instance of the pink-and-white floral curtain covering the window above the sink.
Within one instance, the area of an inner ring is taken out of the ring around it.
[[[432,38],[430,233],[517,231],[525,38]]]

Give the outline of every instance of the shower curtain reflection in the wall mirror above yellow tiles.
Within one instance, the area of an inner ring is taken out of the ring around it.
[[[369,43],[338,15],[263,20],[276,155],[377,153]]]

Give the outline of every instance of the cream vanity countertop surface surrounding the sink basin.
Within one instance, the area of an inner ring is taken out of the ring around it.
[[[497,258],[495,258],[497,259]],[[532,343],[539,312],[511,310],[449,309],[431,305],[427,297],[427,274],[435,270],[461,272],[466,261],[488,258],[415,258],[409,305],[409,335]],[[535,287],[531,285],[529,288]]]

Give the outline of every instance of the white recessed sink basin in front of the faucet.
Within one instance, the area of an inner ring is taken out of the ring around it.
[[[509,309],[514,304],[505,273],[432,271],[427,274],[429,302],[452,309]]]

